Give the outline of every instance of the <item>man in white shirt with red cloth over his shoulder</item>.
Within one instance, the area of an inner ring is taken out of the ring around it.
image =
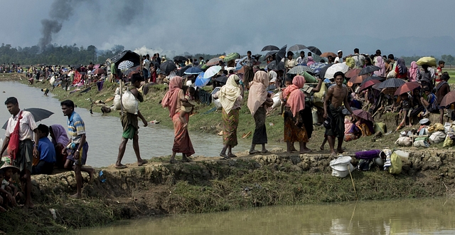
[[[19,108],[16,98],[10,97],[5,101],[6,108],[13,115],[9,117],[6,126],[5,141],[1,147],[0,156],[8,147],[8,154],[13,160],[13,165],[21,172],[21,181],[25,182],[23,191],[26,194],[26,203],[23,209],[33,208],[31,202],[31,169],[33,157],[38,157],[38,126],[33,115]],[[33,135],[34,134],[34,135]],[[33,142],[33,137],[35,142]]]

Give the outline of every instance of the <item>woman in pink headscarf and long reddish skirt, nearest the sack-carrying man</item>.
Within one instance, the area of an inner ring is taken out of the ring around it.
[[[185,123],[181,122],[179,118],[179,111],[181,110],[182,103],[181,100],[185,98],[182,90],[183,78],[175,76],[169,82],[169,90],[164,95],[162,105],[163,108],[168,108],[169,117],[172,118],[173,130],[174,130],[174,139],[172,147],[172,156],[171,163],[176,163],[176,153],[182,153],[183,162],[191,162],[188,157],[194,154],[193,145],[191,144],[190,136],[188,135],[188,129],[185,126]],[[186,123],[188,123],[189,115],[185,115]]]

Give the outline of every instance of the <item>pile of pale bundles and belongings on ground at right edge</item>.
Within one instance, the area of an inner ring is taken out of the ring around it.
[[[402,131],[395,142],[400,146],[429,147],[444,142],[444,147],[454,144],[455,122],[446,122],[445,125],[435,123],[430,125],[428,118],[420,120],[418,130]]]

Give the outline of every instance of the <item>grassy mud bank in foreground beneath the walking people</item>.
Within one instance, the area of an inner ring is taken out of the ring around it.
[[[139,216],[356,200],[350,177],[331,176],[328,155],[280,151],[231,160],[198,157],[178,164],[154,157],[154,162],[143,167],[97,169],[92,182],[84,174],[82,199],[69,197],[75,192],[73,172],[34,176],[36,208],[28,214],[18,208],[1,213],[0,227],[8,234],[55,234]],[[358,199],[450,195],[454,160],[455,151],[411,150],[399,175],[378,167],[370,172],[355,171]]]

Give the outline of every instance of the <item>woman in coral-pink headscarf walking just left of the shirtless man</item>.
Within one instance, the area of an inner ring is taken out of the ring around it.
[[[283,91],[283,98],[286,100],[284,108],[284,141],[287,144],[287,152],[294,150],[294,146],[292,146],[294,142],[299,142],[300,153],[311,152],[306,147],[309,137],[303,121],[304,115],[309,115],[303,112],[305,109],[305,95],[300,89],[304,85],[305,78],[297,75],[292,80],[292,85],[289,85]]]

